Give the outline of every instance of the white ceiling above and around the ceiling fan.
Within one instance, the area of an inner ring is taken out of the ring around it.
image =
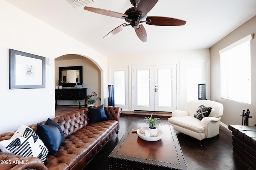
[[[108,56],[209,48],[256,15],[256,0],[159,0],[148,16],[186,20],[183,26],[143,24],[148,41],[138,39],[133,28],[102,39],[124,19],[74,8],[67,0],[6,0],[32,16],[52,25],[88,47]],[[95,0],[88,6],[124,13],[130,0]]]

